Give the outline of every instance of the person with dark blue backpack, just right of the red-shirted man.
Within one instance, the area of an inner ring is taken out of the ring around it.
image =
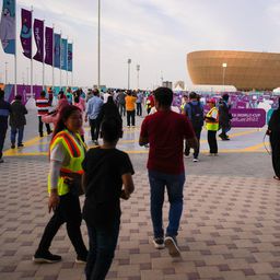
[[[191,92],[189,94],[189,102],[185,104],[184,113],[188,119],[190,120],[195,135],[198,140],[198,148],[194,150],[194,162],[198,162],[198,155],[199,155],[199,141],[200,141],[200,135],[203,127],[203,106],[198,101],[198,95],[195,92]],[[190,148],[188,147],[188,143],[186,141],[185,143],[185,156],[189,156]]]

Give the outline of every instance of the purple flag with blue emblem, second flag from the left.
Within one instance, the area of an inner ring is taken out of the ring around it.
[[[22,30],[21,43],[23,55],[27,58],[32,57],[32,12],[22,9]]]

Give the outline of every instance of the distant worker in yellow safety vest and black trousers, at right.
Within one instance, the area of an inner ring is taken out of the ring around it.
[[[219,112],[215,107],[215,101],[213,98],[207,102],[210,106],[210,110],[206,115],[206,129],[207,140],[210,148],[209,155],[218,155],[217,131],[219,129]]]

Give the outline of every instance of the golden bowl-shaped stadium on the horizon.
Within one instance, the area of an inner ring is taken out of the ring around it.
[[[272,91],[280,86],[280,54],[200,50],[187,55],[194,84],[233,85],[238,91]]]

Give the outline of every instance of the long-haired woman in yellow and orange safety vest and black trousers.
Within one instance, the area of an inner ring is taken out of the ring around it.
[[[35,262],[57,262],[61,256],[49,252],[52,238],[66,223],[68,236],[77,253],[77,262],[85,262],[88,249],[81,234],[81,207],[78,188],[81,186],[85,145],[79,135],[82,113],[77,106],[66,106],[59,116],[49,145],[48,210],[54,215],[43,233],[33,257]]]

